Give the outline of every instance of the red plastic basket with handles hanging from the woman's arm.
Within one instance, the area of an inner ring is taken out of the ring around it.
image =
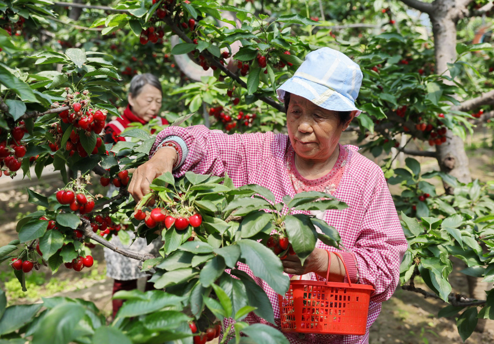
[[[374,288],[348,283],[328,282],[331,257],[328,252],[326,281],[292,280],[285,296],[278,295],[282,332],[364,335],[369,300]],[[341,261],[340,254],[334,252]]]

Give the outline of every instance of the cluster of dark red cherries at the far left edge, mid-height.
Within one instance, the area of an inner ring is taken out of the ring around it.
[[[1,135],[0,129],[0,135]],[[21,142],[27,132],[24,121],[19,121],[18,125],[10,130],[10,141],[0,141],[0,176],[13,174],[21,168],[22,157],[26,155],[26,146]],[[15,174],[13,174],[15,175]]]

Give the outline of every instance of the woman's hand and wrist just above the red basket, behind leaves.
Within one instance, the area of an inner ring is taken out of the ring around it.
[[[333,253],[331,255],[331,265],[329,266],[329,280],[334,282],[343,282],[345,278],[345,268],[343,263]],[[305,275],[309,272],[315,272],[326,278],[328,271],[328,253],[326,250],[316,248],[305,259],[304,265],[296,255],[288,255],[282,260],[283,271],[290,275]]]

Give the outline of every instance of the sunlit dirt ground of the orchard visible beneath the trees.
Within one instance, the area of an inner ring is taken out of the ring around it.
[[[483,181],[493,180],[494,158],[492,149],[477,149],[469,153],[470,167],[474,177]],[[433,161],[422,161],[423,169],[435,168]],[[48,177],[47,177],[48,178]],[[46,181],[48,179],[45,179]],[[51,178],[49,183],[29,187],[43,193],[52,194],[56,188],[61,187],[58,178]],[[8,191],[0,190],[0,247],[6,245],[17,238],[15,224],[22,217],[22,214],[32,212],[35,209],[27,203],[25,188],[27,184],[19,183],[12,187],[9,185]],[[17,217],[17,219],[16,219]],[[38,287],[40,295],[43,296],[68,296],[71,298],[83,298],[96,303],[103,313],[110,317],[111,313],[111,288],[112,280],[105,278],[105,263],[102,249],[93,249],[93,256],[99,261],[97,269],[98,278],[91,276],[87,270],[78,273],[74,270],[65,269],[63,266],[53,277],[61,281],[69,280],[68,287],[55,294],[43,290],[43,286]],[[7,272],[10,268],[6,264],[0,265],[0,273]],[[52,274],[46,267],[41,267],[45,273],[46,280]],[[40,271],[40,272],[41,272]],[[32,272],[39,273],[39,272]],[[4,287],[4,282],[0,280],[0,287]],[[450,278],[453,290],[467,294],[466,282],[458,275]],[[420,286],[426,289],[425,286]],[[26,298],[15,299],[15,303],[32,303],[39,300],[29,300]],[[371,328],[370,343],[382,344],[444,344],[462,343],[456,330],[455,321],[451,318],[437,318],[439,309],[444,306],[442,301],[435,299],[424,299],[423,296],[404,291],[398,288],[393,297],[382,304],[382,311]],[[483,333],[474,332],[467,339],[468,344],[492,344],[494,343],[494,321],[488,321]]]

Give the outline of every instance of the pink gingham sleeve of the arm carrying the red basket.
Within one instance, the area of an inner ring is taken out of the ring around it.
[[[368,180],[374,185],[366,190],[369,194],[364,198],[369,202],[360,236],[351,251],[357,258],[360,283],[374,287],[371,301],[382,302],[398,285],[407,240],[382,170],[372,169]]]

